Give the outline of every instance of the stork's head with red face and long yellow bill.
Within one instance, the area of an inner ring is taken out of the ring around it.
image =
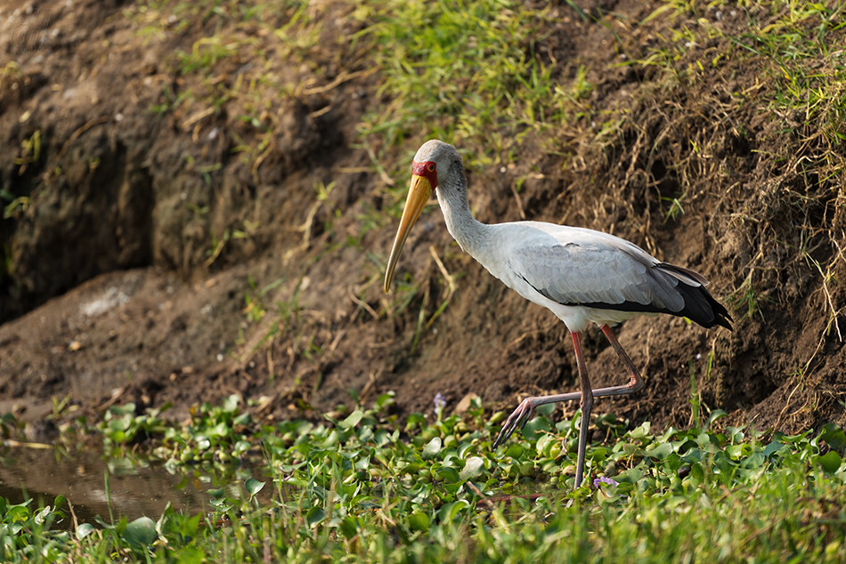
[[[459,152],[449,143],[433,139],[426,141],[414,156],[411,163],[411,188],[409,198],[405,202],[403,219],[400,220],[400,227],[396,230],[394,248],[391,250],[391,257],[387,261],[385,271],[385,292],[391,288],[391,280],[394,278],[396,262],[400,258],[400,252],[405,245],[411,228],[417,222],[420,213],[432,196],[432,191],[438,186],[442,189],[460,187],[461,183],[453,181],[456,175],[463,178],[464,165],[461,162]]]

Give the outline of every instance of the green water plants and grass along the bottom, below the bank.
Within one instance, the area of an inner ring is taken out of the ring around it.
[[[392,402],[386,394],[369,409],[342,408],[325,423],[261,428],[235,397],[198,407],[182,426],[163,425],[157,413],[113,408],[102,425],[110,456],[137,453],[124,445],[144,431],[150,455],[174,471],[264,456],[269,475],[212,490],[202,517],[168,508],[156,520],[102,519],[70,531],[56,528],[71,514],[61,497],[48,507],[0,500],[0,559],[846,558],[846,435],[836,425],[795,436],[756,433],[720,426],[725,414],[713,412],[702,427],[655,434],[648,423],[624,431],[624,422],[605,415],[596,424],[606,439],[588,450],[590,479],[573,491],[575,419],[553,426],[538,416],[525,438],[492,451],[499,423],[477,403],[463,418],[416,414],[402,423],[387,415]],[[599,478],[606,481],[596,487]],[[270,501],[260,502],[259,491],[270,491]]]

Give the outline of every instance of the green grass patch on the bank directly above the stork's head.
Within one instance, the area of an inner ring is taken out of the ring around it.
[[[357,16],[375,45],[378,93],[389,99],[364,118],[361,134],[383,148],[438,137],[480,149],[479,164],[508,163],[526,135],[582,115],[586,70],[562,81],[535,52],[555,25],[547,10],[508,0],[386,0],[362,4]]]

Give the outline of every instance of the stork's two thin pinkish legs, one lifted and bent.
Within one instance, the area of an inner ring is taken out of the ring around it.
[[[593,390],[590,394],[592,397],[590,398],[589,410],[590,407],[593,406],[593,398],[604,398],[607,396],[620,396],[625,394],[630,394],[635,391],[639,391],[643,388],[643,379],[640,377],[640,373],[638,369],[634,366],[634,363],[631,362],[629,355],[626,354],[625,350],[622,350],[622,346],[620,346],[620,342],[617,341],[617,338],[612,333],[611,328],[609,326],[601,326],[600,329],[602,333],[604,333],[608,339],[608,342],[611,343],[612,348],[617,353],[617,356],[620,357],[622,363],[626,366],[626,372],[629,373],[629,383],[622,385],[622,386],[611,386],[608,388],[599,388],[598,390]],[[571,333],[573,337],[573,348],[576,351],[576,364],[579,366],[579,378],[582,385],[582,391],[571,391],[569,393],[562,393],[556,394],[554,396],[537,396],[534,398],[526,398],[524,399],[517,409],[508,416],[506,422],[502,425],[502,430],[500,431],[500,435],[493,441],[493,447],[496,448],[508,440],[508,437],[514,431],[517,431],[517,428],[525,427],[525,423],[529,421],[529,417],[532,416],[534,412],[534,408],[538,406],[543,406],[548,403],[557,403],[559,401],[572,401],[573,399],[582,399],[582,428],[586,429],[585,425],[588,421],[588,417],[585,415],[585,408],[584,408],[584,401],[585,396],[583,395],[583,391],[585,390],[585,383],[588,381],[588,371],[587,369],[583,369],[584,367],[584,359],[582,358],[582,342],[578,333]],[[578,342],[578,346],[577,346]],[[582,378],[582,374],[584,377]],[[590,389],[590,383],[587,383],[587,388]],[[582,439],[587,441],[587,434],[586,432],[579,433],[579,443],[580,443],[580,453],[583,453],[581,448]],[[582,463],[584,461],[582,460]],[[576,473],[579,473],[579,463],[576,463]],[[579,480],[581,482],[581,480]]]

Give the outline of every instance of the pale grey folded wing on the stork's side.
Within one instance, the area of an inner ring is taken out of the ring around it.
[[[701,284],[689,271],[663,266],[622,239],[619,243],[612,239],[525,246],[516,249],[509,260],[509,267],[518,276],[558,303],[678,315],[685,309],[679,283],[692,287]]]

